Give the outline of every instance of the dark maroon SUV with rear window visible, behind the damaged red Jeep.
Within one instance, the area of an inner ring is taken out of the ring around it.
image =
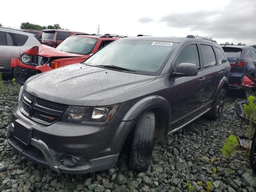
[[[61,42],[64,41],[66,38],[74,34],[89,35],[88,33],[75,32],[70,30],[44,29],[42,30],[42,34],[39,38],[39,41],[43,45],[55,48],[59,44],[61,44]]]

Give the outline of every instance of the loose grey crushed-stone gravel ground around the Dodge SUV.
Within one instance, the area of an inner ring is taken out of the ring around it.
[[[222,116],[216,120],[202,117],[155,145],[152,163],[146,172],[128,170],[125,156],[118,165],[85,175],[57,174],[15,154],[6,140],[6,126],[12,109],[18,104],[18,92],[11,81],[8,94],[0,95],[0,191],[94,191],[94,192],[180,192],[207,191],[211,182],[214,192],[253,192],[256,177],[241,148],[231,158],[230,166],[220,149],[230,134],[246,134],[246,126],[236,115],[235,103],[241,99],[227,98]],[[252,94],[256,95],[256,92]],[[211,162],[211,159],[214,159]],[[216,168],[216,173],[213,169]],[[202,186],[200,186],[202,182]],[[2,184],[2,185],[1,185]]]

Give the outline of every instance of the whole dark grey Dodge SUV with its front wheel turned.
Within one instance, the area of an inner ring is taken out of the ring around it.
[[[127,141],[129,168],[147,170],[154,141],[222,112],[230,65],[214,40],[194,37],[123,38],[30,77],[10,146],[56,172],[83,174],[114,166]]]

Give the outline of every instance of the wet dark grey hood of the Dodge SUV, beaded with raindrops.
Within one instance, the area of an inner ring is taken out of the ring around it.
[[[97,106],[104,98],[155,79],[156,76],[72,64],[30,77],[24,88],[35,96],[62,104]]]

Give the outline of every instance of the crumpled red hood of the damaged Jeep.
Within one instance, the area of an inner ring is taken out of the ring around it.
[[[28,55],[40,55],[44,57],[83,57],[84,56],[82,54],[64,52],[47,45],[34,46],[24,51],[24,53]]]

